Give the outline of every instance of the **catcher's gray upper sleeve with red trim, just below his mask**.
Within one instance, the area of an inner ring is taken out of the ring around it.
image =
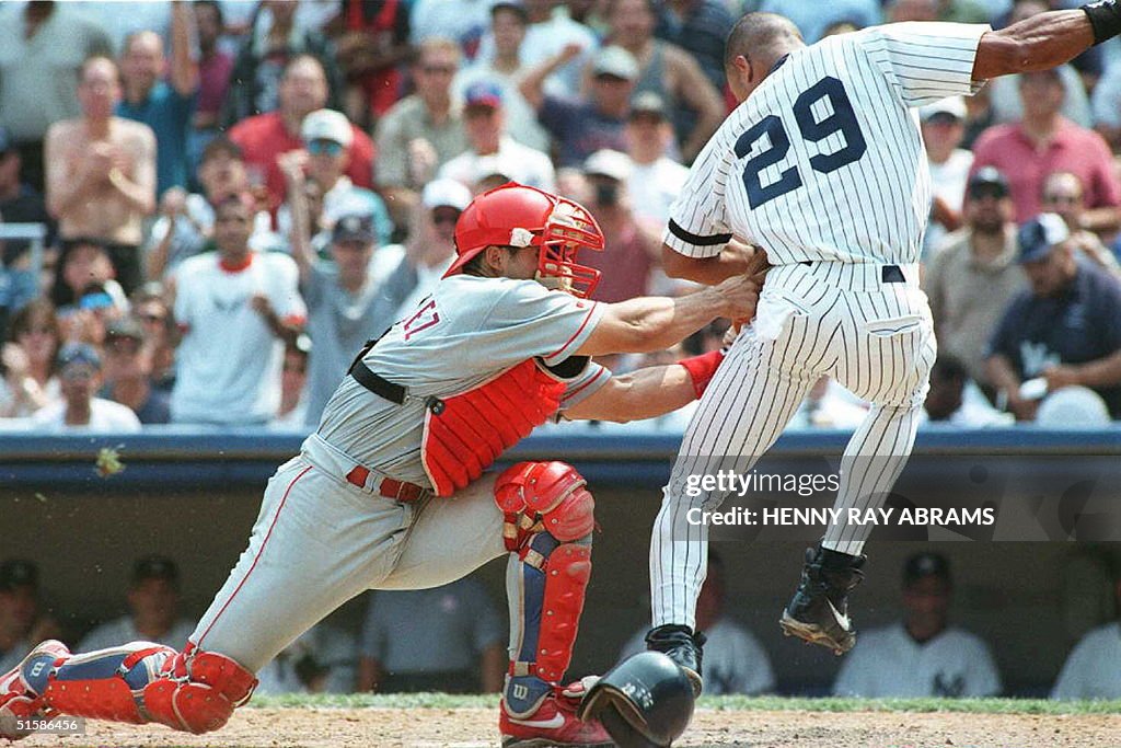
[[[554,366],[580,349],[602,315],[603,305],[597,302],[549,290],[535,280],[513,280],[507,283],[483,325],[498,333],[493,360],[540,357],[546,366]]]

